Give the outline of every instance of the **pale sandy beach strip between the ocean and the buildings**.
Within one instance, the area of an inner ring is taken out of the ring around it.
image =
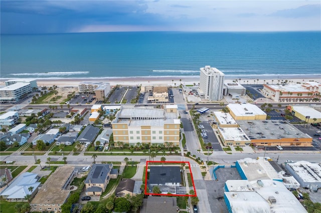
[[[4,86],[5,81],[9,79],[19,79],[19,78],[2,78],[0,80],[0,85]],[[64,77],[64,78],[25,78],[25,79],[36,79],[38,86],[78,86],[82,81],[87,82],[109,82],[110,85],[140,85],[140,84],[168,84],[168,85],[198,85],[200,76],[136,76],[136,77],[92,77],[92,78],[76,78],[76,77]],[[241,79],[241,80],[240,80]],[[259,79],[257,83],[257,79]],[[242,78],[235,75],[225,75],[225,82],[236,81],[242,85],[247,84],[277,84],[279,81],[288,80],[290,83],[296,82],[307,82],[316,81],[321,82],[321,74],[306,74],[306,75],[259,75]]]

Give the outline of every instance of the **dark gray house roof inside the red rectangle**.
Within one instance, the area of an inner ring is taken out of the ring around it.
[[[148,184],[177,185],[182,181],[180,166],[150,166]]]

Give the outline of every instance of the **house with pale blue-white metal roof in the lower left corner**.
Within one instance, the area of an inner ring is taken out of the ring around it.
[[[38,174],[24,172],[13,180],[0,195],[8,201],[26,201],[25,196],[27,194],[33,197],[37,193],[38,187],[41,184],[41,182],[38,182],[38,179]]]

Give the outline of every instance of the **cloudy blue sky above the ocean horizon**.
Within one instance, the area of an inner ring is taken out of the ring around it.
[[[1,0],[2,34],[321,30],[320,0]]]

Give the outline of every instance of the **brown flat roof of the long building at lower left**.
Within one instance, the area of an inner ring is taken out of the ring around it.
[[[46,182],[41,186],[31,204],[62,204],[66,200],[70,190],[64,190],[62,187],[74,171],[75,166],[63,165],[58,166]]]

